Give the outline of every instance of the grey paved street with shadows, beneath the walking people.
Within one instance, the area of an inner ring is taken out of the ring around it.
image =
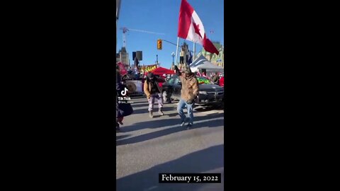
[[[155,104],[149,118],[147,99],[132,101],[135,112],[116,133],[118,191],[223,190],[223,110],[195,111],[194,125],[186,130],[179,127],[176,102],[164,104],[164,116]],[[159,184],[159,173],[221,173],[222,183]]]

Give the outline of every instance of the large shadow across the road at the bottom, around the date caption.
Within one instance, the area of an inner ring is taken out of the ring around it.
[[[211,184],[185,184],[185,183],[159,183],[159,173],[204,173],[208,170],[223,168],[223,146],[211,146],[208,149],[193,152],[175,159],[154,166],[142,172],[125,176],[116,180],[116,188],[118,191],[193,191],[193,190],[223,190],[224,185],[221,183]],[[222,178],[224,176],[223,172]],[[222,180],[223,183],[223,180]],[[204,188],[204,189],[203,189]]]

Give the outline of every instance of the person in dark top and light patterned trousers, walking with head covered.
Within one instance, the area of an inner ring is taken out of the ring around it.
[[[164,115],[163,108],[163,96],[162,88],[159,87],[159,82],[165,82],[164,79],[154,76],[151,72],[147,74],[147,79],[144,83],[144,93],[147,95],[147,100],[149,101],[149,117],[154,117],[152,110],[154,109],[154,100],[158,102],[158,113],[159,115]]]

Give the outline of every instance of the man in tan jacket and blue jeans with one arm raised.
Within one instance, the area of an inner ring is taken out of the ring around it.
[[[186,115],[183,112],[183,108],[186,106],[188,110],[188,129],[193,126],[193,103],[198,96],[198,80],[195,74],[191,72],[190,67],[186,64],[184,66],[184,74],[181,74],[179,68],[175,66],[176,74],[179,76],[179,80],[182,83],[181,88],[181,99],[179,100],[179,105],[177,106],[177,112],[179,112],[179,117],[181,117],[181,127],[186,123]]]

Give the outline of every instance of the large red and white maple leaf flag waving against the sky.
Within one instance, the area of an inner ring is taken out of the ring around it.
[[[215,45],[205,35],[205,30],[202,21],[197,13],[186,0],[181,1],[179,9],[179,33],[177,35],[191,42],[196,42],[203,45],[204,49],[210,53],[216,53],[218,50]]]

